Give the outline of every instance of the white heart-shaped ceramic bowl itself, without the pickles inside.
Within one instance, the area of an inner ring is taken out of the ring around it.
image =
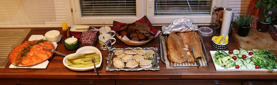
[[[95,53],[97,53],[100,56],[100,63],[95,66],[96,68],[98,68],[98,67],[101,66],[101,63],[102,63],[102,54],[101,54],[101,52],[96,47],[91,47],[91,46],[81,47],[81,48],[79,48],[76,51],[76,53],[67,55],[66,57],[63,58],[62,63],[68,69],[74,70],[74,71],[88,71],[88,70],[92,70],[92,69],[94,69],[94,66],[78,68],[78,67],[69,67],[67,65],[67,63],[66,63],[67,62],[67,59],[66,59],[67,57],[72,57],[72,56],[75,56],[75,55],[79,55],[79,54],[83,54],[83,53],[92,53],[92,52],[95,52]]]

